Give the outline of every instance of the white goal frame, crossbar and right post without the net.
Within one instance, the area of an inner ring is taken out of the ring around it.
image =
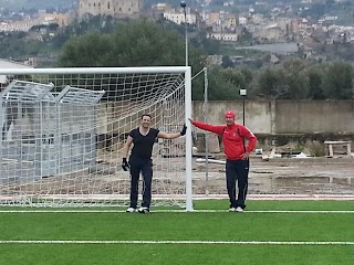
[[[191,149],[192,138],[191,117],[191,68],[190,66],[149,66],[149,67],[66,67],[66,68],[0,68],[0,76],[11,75],[75,75],[75,74],[184,74],[185,86],[185,123],[188,127],[186,134],[186,171],[185,171],[185,200],[186,211],[192,211],[192,178],[191,178]],[[1,145],[0,145],[1,148]],[[0,193],[1,197],[1,193]]]

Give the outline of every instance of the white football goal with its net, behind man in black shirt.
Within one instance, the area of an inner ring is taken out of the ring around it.
[[[126,206],[131,179],[121,163],[128,132],[143,114],[166,132],[180,131],[190,117],[190,67],[0,70],[0,76],[1,205]],[[190,160],[190,134],[157,140],[153,204],[191,209]]]

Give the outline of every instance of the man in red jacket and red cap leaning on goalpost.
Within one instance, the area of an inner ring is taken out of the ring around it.
[[[244,126],[235,123],[236,115],[225,113],[226,125],[210,125],[192,120],[190,123],[199,129],[215,132],[222,138],[226,160],[226,184],[230,199],[230,212],[242,212],[248,190],[249,156],[253,151],[257,137]],[[246,146],[244,139],[248,139]],[[238,180],[238,181],[237,181]],[[238,197],[236,198],[236,181]]]

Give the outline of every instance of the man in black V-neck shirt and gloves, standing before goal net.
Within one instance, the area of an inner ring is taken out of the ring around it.
[[[131,205],[126,212],[148,213],[152,201],[152,179],[153,179],[153,160],[152,152],[156,138],[175,139],[186,135],[186,125],[180,132],[167,134],[150,127],[152,116],[144,114],[142,125],[131,130],[123,149],[122,168],[131,170]],[[129,162],[126,160],[131,146],[133,144]],[[140,172],[143,174],[143,202],[137,210],[138,181]]]

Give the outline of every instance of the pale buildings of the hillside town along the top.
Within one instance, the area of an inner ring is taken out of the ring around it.
[[[341,0],[336,0],[340,2]],[[85,15],[112,15],[116,19],[153,17],[155,19],[164,18],[176,24],[181,24],[186,20],[188,24],[205,28],[208,31],[208,38],[236,42],[242,32],[248,31],[252,34],[256,43],[269,43],[281,41],[298,41],[311,43],[321,41],[324,43],[333,42],[353,42],[354,26],[344,26],[336,24],[337,15],[323,15],[319,19],[312,18],[290,18],[287,13],[292,11],[289,4],[281,4],[271,9],[270,13],[259,13],[267,1],[256,1],[247,12],[235,13],[232,7],[237,7],[235,0],[223,1],[222,11],[210,11],[208,6],[212,0],[200,0],[194,4],[194,9],[180,8],[178,3],[159,2],[143,9],[143,0],[80,0],[72,10],[61,13],[52,10],[51,13],[45,10],[38,12],[12,12],[11,14],[1,13],[0,31],[24,31],[40,24],[55,23],[59,26],[65,26],[75,19],[83,19]],[[303,9],[311,3],[311,0],[301,1]],[[300,4],[301,6],[301,4]],[[227,10],[230,11],[227,11]]]

